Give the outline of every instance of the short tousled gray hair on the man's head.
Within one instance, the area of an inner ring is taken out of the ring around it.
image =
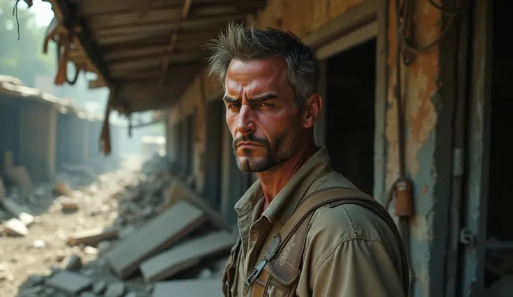
[[[213,52],[207,59],[209,75],[217,76],[223,88],[231,60],[248,61],[271,56],[285,60],[298,107],[303,107],[305,100],[319,87],[319,59],[291,32],[271,28],[261,30],[254,26],[247,29],[243,24],[231,22],[206,47]]]

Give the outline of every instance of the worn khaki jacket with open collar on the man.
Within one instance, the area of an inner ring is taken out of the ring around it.
[[[334,186],[355,188],[331,170],[328,151],[321,147],[263,213],[260,183],[257,181],[247,190],[235,206],[242,245],[230,290],[232,296],[251,296],[250,287],[244,284],[247,276],[300,199],[315,190]],[[268,296],[404,296],[397,240],[388,224],[374,212],[355,204],[322,206],[315,211],[308,227],[305,242],[292,238],[278,259],[280,265],[297,271],[289,280],[294,285],[272,281],[267,288]],[[303,268],[288,261],[293,259],[288,255],[295,252],[303,253]]]

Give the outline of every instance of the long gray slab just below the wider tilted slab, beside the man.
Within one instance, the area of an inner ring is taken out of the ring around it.
[[[201,258],[230,250],[235,241],[233,234],[227,231],[185,241],[144,261],[140,266],[141,273],[146,282],[165,280],[196,265]]]

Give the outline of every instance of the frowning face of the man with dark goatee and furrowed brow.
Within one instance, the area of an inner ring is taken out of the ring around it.
[[[224,102],[233,152],[243,172],[263,172],[289,160],[302,122],[283,59],[231,61]]]

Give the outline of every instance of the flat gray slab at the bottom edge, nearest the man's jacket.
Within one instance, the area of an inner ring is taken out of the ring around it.
[[[222,297],[221,280],[173,280],[158,282],[153,289],[153,297]]]

